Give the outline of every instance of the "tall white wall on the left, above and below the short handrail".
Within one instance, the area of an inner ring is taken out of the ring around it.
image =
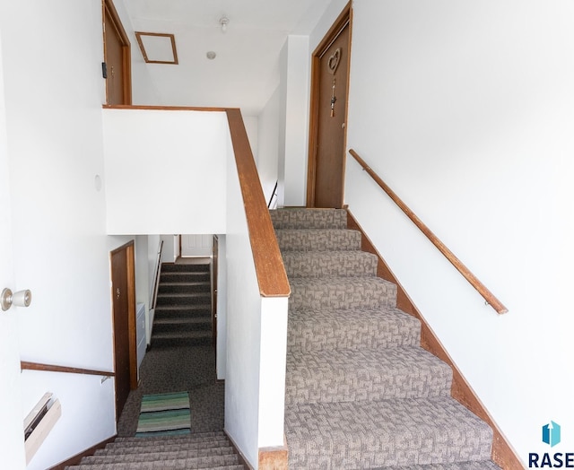
[[[13,341],[25,361],[111,370],[109,250],[126,238],[106,236],[105,194],[96,182],[104,174],[101,4],[3,2],[0,30],[13,286],[33,296],[17,311]],[[21,377],[20,420],[47,391],[59,395],[63,410],[30,468],[56,464],[116,431],[113,387],[54,376]],[[66,394],[62,384],[74,380],[81,393]]]

